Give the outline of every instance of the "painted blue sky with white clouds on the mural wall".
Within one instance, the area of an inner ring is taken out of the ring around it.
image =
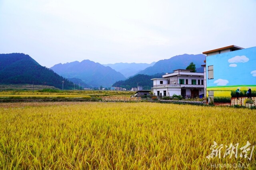
[[[213,65],[214,79],[208,79]],[[256,85],[256,47],[206,57],[207,87]]]

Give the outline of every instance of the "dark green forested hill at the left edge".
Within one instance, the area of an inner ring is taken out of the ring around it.
[[[54,86],[62,89],[74,88],[74,84],[49,68],[38,64],[23,53],[0,54],[1,84],[34,84]]]

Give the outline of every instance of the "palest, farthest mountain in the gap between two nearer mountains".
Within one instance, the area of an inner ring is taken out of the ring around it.
[[[102,64],[104,66],[110,66],[114,70],[122,73],[126,78],[134,76],[138,72],[144,70],[149,66],[153,66],[156,62],[153,63],[115,63],[115,64]]]

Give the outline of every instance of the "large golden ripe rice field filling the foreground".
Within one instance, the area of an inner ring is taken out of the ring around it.
[[[0,104],[0,169],[208,170],[249,164],[240,147],[256,144],[252,109],[159,103]],[[214,141],[221,158],[206,156]],[[239,143],[238,157],[223,158]],[[250,152],[251,153],[251,152]],[[249,154],[249,153],[248,153]],[[234,169],[234,168],[230,168]]]

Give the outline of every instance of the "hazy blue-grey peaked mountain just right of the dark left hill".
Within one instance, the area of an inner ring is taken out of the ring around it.
[[[78,78],[92,87],[110,87],[116,81],[125,80],[120,72],[90,60],[56,64],[51,69],[65,78]]]

